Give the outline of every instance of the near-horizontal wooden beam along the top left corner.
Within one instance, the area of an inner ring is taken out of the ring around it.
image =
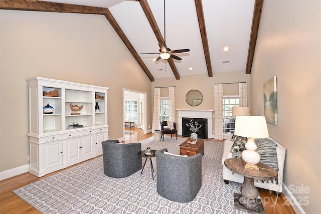
[[[107,8],[71,5],[36,0],[1,0],[0,9],[73,14],[106,14]]]

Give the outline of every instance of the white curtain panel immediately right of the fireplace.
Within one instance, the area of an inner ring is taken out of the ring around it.
[[[214,85],[214,137],[223,140],[223,85]]]

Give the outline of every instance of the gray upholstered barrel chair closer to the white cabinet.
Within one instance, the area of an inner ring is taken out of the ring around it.
[[[141,169],[140,143],[119,143],[118,140],[101,142],[104,173],[109,177],[127,177]]]

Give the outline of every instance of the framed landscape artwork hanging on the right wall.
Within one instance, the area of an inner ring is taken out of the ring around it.
[[[277,88],[276,76],[264,83],[264,116],[266,122],[277,125]]]

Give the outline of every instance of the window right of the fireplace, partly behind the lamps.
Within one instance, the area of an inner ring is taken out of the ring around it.
[[[232,107],[239,106],[239,97],[223,97],[223,132],[234,133],[235,117],[232,116]]]

